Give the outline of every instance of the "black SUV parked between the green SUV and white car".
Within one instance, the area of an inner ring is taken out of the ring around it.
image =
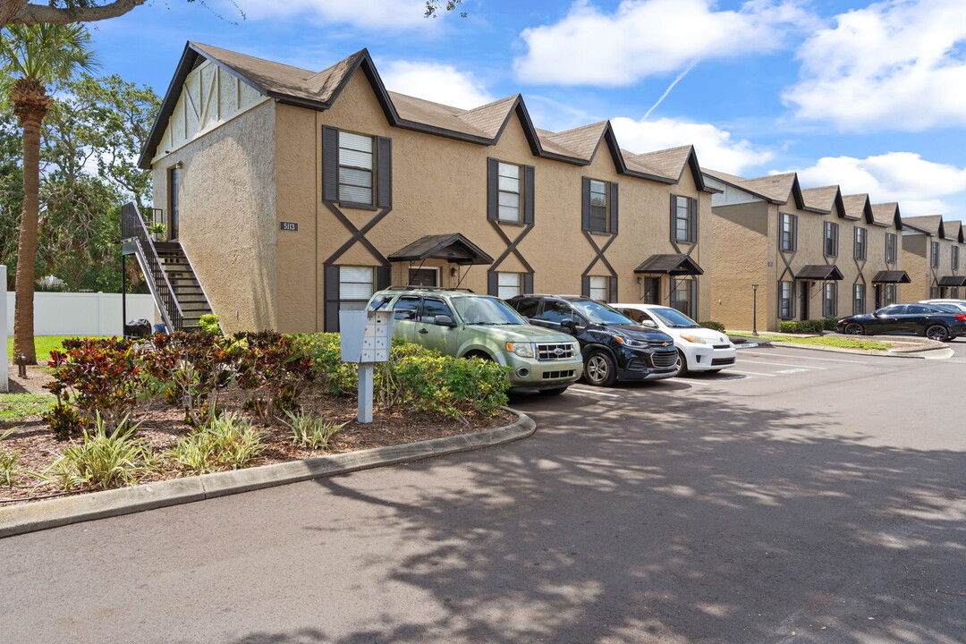
[[[578,295],[517,295],[507,303],[531,324],[577,338],[583,378],[591,384],[657,380],[677,373],[677,350],[668,334],[648,330],[607,304]]]

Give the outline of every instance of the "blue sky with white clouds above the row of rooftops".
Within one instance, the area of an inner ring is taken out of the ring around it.
[[[610,119],[633,152],[693,144],[744,177],[966,214],[964,0],[464,0],[438,19],[421,0],[207,2],[97,23],[103,71],[163,94],[188,40],[310,70],[366,47],[404,94],[520,93],[538,127]]]

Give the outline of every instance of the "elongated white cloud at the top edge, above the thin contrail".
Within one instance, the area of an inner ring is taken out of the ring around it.
[[[606,14],[578,0],[559,22],[526,29],[514,68],[530,83],[630,85],[696,61],[775,51],[814,28],[800,0],[750,0],[715,11],[714,0],[624,0]]]

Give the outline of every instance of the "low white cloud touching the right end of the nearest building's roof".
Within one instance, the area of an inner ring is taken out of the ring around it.
[[[611,120],[611,125],[617,142],[625,150],[640,154],[693,145],[702,166],[729,174],[740,175],[745,168],[766,163],[774,156],[770,150],[745,139],[732,139],[730,132],[706,123],[619,117]]]

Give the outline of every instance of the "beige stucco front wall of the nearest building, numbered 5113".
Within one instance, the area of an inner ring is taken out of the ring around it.
[[[705,223],[710,213],[710,194],[698,193],[689,170],[679,184],[667,185],[618,175],[606,145],[590,165],[562,163],[535,157],[523,126],[512,115],[495,146],[465,143],[387,124],[382,107],[364,75],[350,80],[335,104],[325,112],[278,105],[276,109],[278,189],[277,217],[298,221],[298,233],[278,235],[277,326],[284,331],[321,330],[324,324],[322,265],[352,237],[351,231],[322,201],[322,127],[335,126],[366,135],[392,139],[393,210],[366,235],[385,256],[426,235],[461,233],[497,259],[506,243],[487,220],[487,158],[535,167],[534,229],[518,246],[533,267],[537,293],[581,292],[581,273],[590,265],[594,251],[581,230],[582,177],[619,183],[619,234],[607,258],[619,278],[614,299],[639,300],[640,286],[634,268],[654,253],[675,253],[669,241],[670,194],[699,199],[699,237],[692,253],[699,266],[709,268],[710,235]],[[378,210],[341,209],[356,227],[363,227]],[[523,226],[501,224],[509,238],[525,232]],[[277,228],[277,226],[275,226]],[[608,236],[593,236],[603,246]],[[687,252],[682,246],[681,252]],[[342,266],[378,266],[361,243],[356,242],[334,261]],[[442,285],[455,286],[449,265],[440,266]],[[405,284],[409,266],[394,265],[392,283]],[[413,267],[416,267],[415,265]],[[487,291],[488,266],[461,268],[463,287]],[[526,268],[513,255],[500,271],[522,272]],[[598,262],[591,275],[608,275]],[[698,318],[709,310],[711,279],[699,279]],[[662,284],[668,297],[668,279]]]

